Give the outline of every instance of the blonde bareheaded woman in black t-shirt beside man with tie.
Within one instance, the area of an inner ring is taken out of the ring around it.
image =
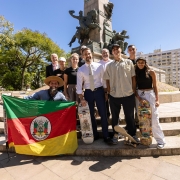
[[[64,72],[64,95],[69,101],[78,102],[79,97],[76,93],[76,85],[79,55],[73,53],[70,59],[71,67],[67,68]]]

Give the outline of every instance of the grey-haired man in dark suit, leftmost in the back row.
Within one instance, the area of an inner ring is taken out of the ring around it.
[[[46,66],[46,77],[53,76],[53,72],[59,68],[58,66],[58,55],[53,53],[51,54],[51,61],[52,64],[49,66]]]

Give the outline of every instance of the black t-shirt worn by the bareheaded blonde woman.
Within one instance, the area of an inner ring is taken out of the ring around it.
[[[76,84],[77,83],[77,71],[78,68],[73,69],[72,67],[67,68],[64,72],[68,76],[67,84]]]

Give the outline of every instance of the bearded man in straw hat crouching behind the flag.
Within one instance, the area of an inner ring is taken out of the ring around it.
[[[49,89],[38,91],[25,99],[48,100],[48,101],[67,101],[65,96],[58,91],[58,87],[63,86],[62,78],[57,76],[49,76],[44,80]]]

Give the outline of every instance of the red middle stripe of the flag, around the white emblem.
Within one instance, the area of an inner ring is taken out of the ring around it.
[[[46,117],[51,123],[51,132],[46,140],[76,130],[75,106],[41,116]],[[30,133],[31,123],[36,117],[37,116],[8,119],[8,142],[14,142],[15,145],[25,145],[39,142],[34,139]]]

